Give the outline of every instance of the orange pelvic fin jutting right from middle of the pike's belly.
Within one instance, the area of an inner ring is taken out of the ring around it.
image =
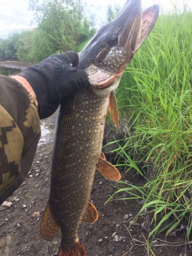
[[[108,180],[121,179],[121,174],[117,168],[102,158],[99,158],[96,164],[96,169],[100,172],[101,175],[103,175],[103,177],[107,178]]]

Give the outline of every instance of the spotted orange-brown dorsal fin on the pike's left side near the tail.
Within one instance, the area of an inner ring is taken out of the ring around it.
[[[43,213],[39,232],[43,237],[43,239],[47,241],[51,241],[58,234],[59,230],[60,230],[60,227],[57,225],[57,223],[52,217],[52,214],[50,211],[50,204],[48,201]]]

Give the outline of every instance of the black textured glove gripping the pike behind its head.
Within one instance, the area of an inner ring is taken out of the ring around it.
[[[78,61],[76,52],[53,54],[18,74],[29,82],[36,93],[40,119],[51,116],[64,97],[90,85],[85,71],[76,68]]]

